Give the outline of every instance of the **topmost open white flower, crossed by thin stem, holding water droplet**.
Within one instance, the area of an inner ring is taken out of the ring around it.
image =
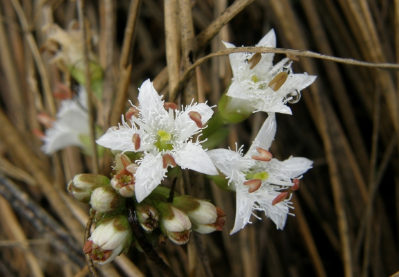
[[[227,48],[235,47],[228,42],[223,42],[223,44]],[[275,31],[270,30],[256,46],[276,47]],[[294,74],[288,57],[273,66],[274,55],[274,53],[230,54],[233,81],[227,96],[248,100],[246,105],[249,105],[252,111],[291,114],[291,109],[285,105],[286,102],[295,97],[301,89],[312,84],[316,76]],[[254,64],[256,65],[253,69],[250,69]]]

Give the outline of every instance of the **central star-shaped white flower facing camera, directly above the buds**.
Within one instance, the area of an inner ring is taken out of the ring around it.
[[[97,141],[111,150],[144,152],[144,157],[136,161],[139,166],[134,175],[138,202],[160,184],[168,166],[178,165],[207,175],[218,174],[201,143],[191,140],[211,118],[212,109],[206,104],[195,103],[185,107],[184,111],[166,110],[162,97],[150,80],[143,82],[138,94],[140,105],[136,107],[140,114],[139,118],[131,117],[132,127],[122,118],[122,125],[110,129]]]

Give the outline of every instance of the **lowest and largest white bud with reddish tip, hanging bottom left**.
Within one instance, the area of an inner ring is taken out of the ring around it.
[[[127,251],[133,240],[129,220],[125,215],[101,220],[91,237],[86,241],[83,252],[90,253],[94,262],[104,265],[123,251]]]

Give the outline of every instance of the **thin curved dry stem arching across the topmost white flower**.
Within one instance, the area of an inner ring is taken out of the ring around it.
[[[171,93],[169,101],[174,101],[176,99],[176,96],[178,94],[178,91],[180,91],[181,87],[183,86],[184,82],[189,78],[189,74],[193,69],[195,69],[197,66],[203,64],[203,62],[206,62],[207,60],[210,60],[212,57],[220,57],[220,56],[226,56],[231,53],[276,53],[276,54],[286,54],[286,55],[295,55],[295,56],[300,56],[300,57],[314,57],[316,59],[322,59],[322,60],[331,60],[333,62],[340,62],[342,64],[350,64],[350,65],[355,65],[355,66],[366,66],[366,67],[373,67],[376,69],[391,69],[391,70],[399,70],[399,64],[389,64],[389,63],[374,63],[374,62],[362,62],[358,60],[353,60],[353,59],[346,59],[343,57],[333,57],[329,55],[322,55],[319,53],[315,53],[312,51],[307,51],[307,50],[294,50],[294,49],[285,49],[285,48],[273,48],[273,47],[265,47],[265,46],[259,46],[259,47],[234,47],[234,48],[228,48],[228,49],[223,49],[221,51],[217,51],[215,53],[212,53],[210,55],[207,55],[205,57],[201,57],[201,59],[198,59],[192,66],[190,66],[185,73],[181,76],[178,85],[174,88],[174,91]]]

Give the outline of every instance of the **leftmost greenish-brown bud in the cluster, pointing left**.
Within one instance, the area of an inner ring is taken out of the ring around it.
[[[100,188],[109,184],[109,179],[98,174],[80,174],[75,175],[69,182],[68,192],[77,199],[77,201],[89,203],[90,195],[95,188]]]

